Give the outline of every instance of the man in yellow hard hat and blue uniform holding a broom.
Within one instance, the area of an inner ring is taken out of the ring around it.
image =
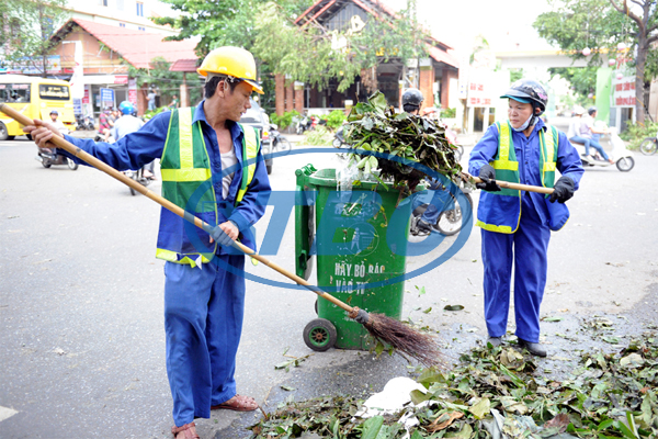
[[[253,398],[236,392],[245,256],[229,244],[239,238],[256,250],[251,226],[263,215],[271,192],[258,133],[237,123],[250,108],[251,92],[262,93],[253,56],[220,47],[198,72],[206,83],[205,100],[196,108],[158,114],[112,145],[66,136],[117,170],[160,158],[162,196],[217,224],[209,236],[168,210],[160,215],[156,256],[167,260],[167,374],[177,439],[197,438],[193,420],[208,418],[211,409],[258,408]],[[41,121],[25,131],[37,145],[59,135]]]

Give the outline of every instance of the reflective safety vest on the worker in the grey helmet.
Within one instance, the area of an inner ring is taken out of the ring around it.
[[[509,122],[500,123],[497,122],[498,128],[498,153],[490,162],[491,167],[496,169],[496,179],[502,181],[509,181],[511,183],[520,183],[519,179],[519,161],[517,160],[517,153],[511,134],[511,125]],[[544,188],[553,188],[555,184],[555,169],[557,160],[557,146],[559,136],[557,130],[554,126],[546,125],[546,131],[540,130],[540,143],[542,150],[540,154],[540,175],[542,178],[542,185]],[[546,195],[547,198],[548,195]],[[552,203],[548,203],[549,207]],[[564,205],[563,205],[564,206]],[[566,210],[566,206],[564,206]],[[561,207],[560,207],[561,210]],[[552,211],[552,209],[549,209]],[[553,212],[549,212],[553,213]],[[560,211],[561,223],[559,227],[564,226],[566,219],[561,221],[563,212]],[[512,234],[519,228],[521,222],[521,191],[501,188],[499,192],[487,192],[481,191],[480,202],[477,211],[477,223],[476,225],[489,230],[498,232],[503,234]],[[558,218],[552,218],[551,228],[554,228],[553,224]]]

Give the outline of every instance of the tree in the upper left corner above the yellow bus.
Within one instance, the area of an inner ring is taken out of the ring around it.
[[[50,35],[69,16],[65,7],[66,0],[2,0],[0,61],[33,67],[45,77],[48,54],[55,47]]]

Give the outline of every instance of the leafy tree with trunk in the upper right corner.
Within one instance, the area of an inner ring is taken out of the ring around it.
[[[551,0],[553,12],[534,23],[540,35],[574,58],[582,58],[585,45],[593,47],[590,65],[601,64],[601,54],[616,54],[623,43],[635,53],[629,64],[636,69],[637,121],[644,123],[651,79],[658,74],[658,56],[649,50],[658,40],[656,0]]]

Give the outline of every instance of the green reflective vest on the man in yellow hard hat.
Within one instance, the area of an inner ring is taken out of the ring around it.
[[[164,150],[160,159],[162,173],[162,196],[181,209],[190,209],[188,202],[198,187],[212,178],[211,160],[203,138],[201,122],[192,123],[195,108],[174,109],[169,120],[169,131],[164,142]],[[250,126],[242,126],[242,179],[235,205],[237,206],[249,189],[256,172],[256,157],[260,149],[259,132]],[[196,216],[209,224],[217,222],[217,195],[213,184],[192,206]],[[162,218],[177,224],[162,224]],[[184,233],[183,218],[161,215],[156,257],[177,263],[189,263],[195,267],[207,263],[217,251],[217,243],[213,252],[198,252]],[[182,235],[182,236],[177,236]]]

